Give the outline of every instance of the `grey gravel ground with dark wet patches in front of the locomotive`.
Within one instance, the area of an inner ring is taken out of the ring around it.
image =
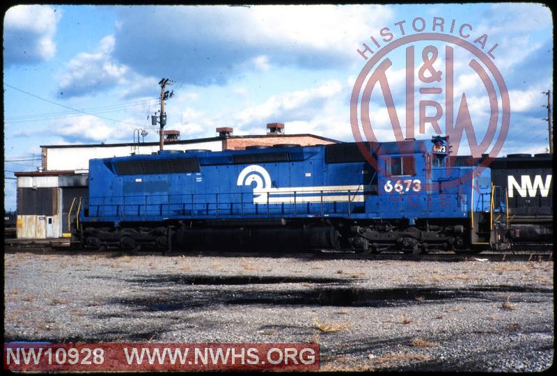
[[[524,372],[554,356],[553,262],[19,253],[4,263],[6,342],[314,342],[321,370]]]

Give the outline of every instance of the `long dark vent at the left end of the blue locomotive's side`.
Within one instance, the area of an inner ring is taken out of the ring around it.
[[[199,172],[197,158],[172,158],[116,162],[118,175]]]

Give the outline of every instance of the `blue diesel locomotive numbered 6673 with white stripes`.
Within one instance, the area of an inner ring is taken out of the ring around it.
[[[91,159],[77,235],[88,247],[124,249],[505,249],[504,194],[489,169],[447,168],[445,144],[437,136]]]

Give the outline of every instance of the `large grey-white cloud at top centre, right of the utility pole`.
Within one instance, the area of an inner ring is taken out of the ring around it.
[[[392,11],[353,5],[155,6],[118,15],[118,61],[148,77],[206,86],[269,64],[346,68],[360,61],[356,49]]]

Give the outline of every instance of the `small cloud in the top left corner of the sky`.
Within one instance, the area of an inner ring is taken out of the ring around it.
[[[4,17],[4,61],[8,65],[36,63],[56,53],[54,33],[61,18],[51,6],[19,5]]]

